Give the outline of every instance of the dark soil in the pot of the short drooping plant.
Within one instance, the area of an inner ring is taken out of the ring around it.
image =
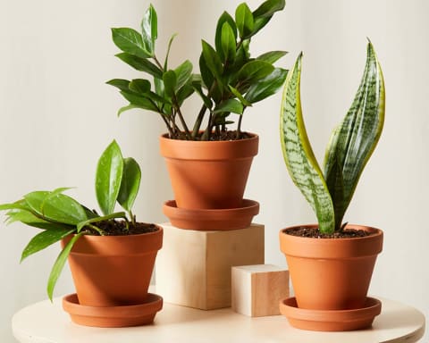
[[[136,222],[133,225],[129,223],[129,228],[127,229],[125,221],[105,221],[97,222],[97,228],[105,231],[105,236],[126,236],[126,235],[139,235],[141,233],[155,232],[158,227],[155,224],[149,224],[147,222]],[[90,234],[99,236],[99,233],[96,230],[88,229]]]

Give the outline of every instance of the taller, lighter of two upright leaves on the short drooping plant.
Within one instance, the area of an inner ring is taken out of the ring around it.
[[[100,156],[96,173],[96,194],[101,211],[114,213],[114,205],[121,188],[123,160],[121,148],[114,140]],[[80,221],[83,222],[83,221]]]

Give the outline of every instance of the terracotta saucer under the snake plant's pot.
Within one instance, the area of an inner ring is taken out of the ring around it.
[[[280,301],[280,312],[298,329],[314,331],[349,331],[370,327],[382,303],[374,297],[366,298],[365,307],[352,310],[309,310],[299,308],[295,297]]]

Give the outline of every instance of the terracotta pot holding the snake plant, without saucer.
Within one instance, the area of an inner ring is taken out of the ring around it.
[[[299,225],[299,227],[317,225]],[[364,238],[302,238],[280,231],[280,247],[289,265],[299,308],[344,310],[366,304],[383,231],[361,225],[346,229],[374,233]]]

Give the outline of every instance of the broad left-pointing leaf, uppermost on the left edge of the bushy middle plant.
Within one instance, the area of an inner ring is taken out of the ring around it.
[[[135,29],[112,29],[112,38],[114,40],[114,44],[124,53],[138,56],[140,58],[151,56],[150,52],[147,51],[147,47],[143,43],[143,38]]]

